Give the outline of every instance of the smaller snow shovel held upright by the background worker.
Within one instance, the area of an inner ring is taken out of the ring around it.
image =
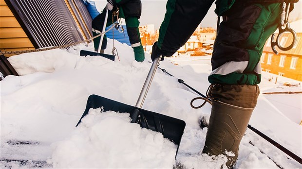
[[[88,55],[89,56],[103,56],[103,57],[105,57],[107,59],[110,59],[110,60],[114,61],[114,55],[100,53],[101,52],[102,43],[103,43],[103,39],[104,39],[104,32],[105,32],[105,29],[106,29],[107,19],[108,19],[108,10],[106,10],[106,16],[105,16],[104,26],[103,26],[102,35],[101,35],[101,39],[100,39],[100,43],[99,43],[97,52],[81,50],[80,51],[80,56],[88,56]]]

